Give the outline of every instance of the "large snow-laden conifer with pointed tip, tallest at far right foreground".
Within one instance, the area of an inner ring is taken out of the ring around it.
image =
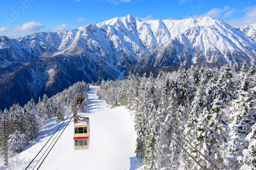
[[[243,149],[248,147],[245,136],[251,132],[251,126],[255,123],[255,100],[248,90],[249,82],[244,77],[238,89],[238,98],[233,100],[231,105],[230,128],[227,152],[229,153],[229,167],[239,169],[241,164],[238,156],[243,156]]]

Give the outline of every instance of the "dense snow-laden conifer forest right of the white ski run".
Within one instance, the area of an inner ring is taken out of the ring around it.
[[[130,73],[102,81],[98,96],[131,110],[144,169],[256,169],[255,71],[244,62],[239,71],[226,64],[155,79]]]

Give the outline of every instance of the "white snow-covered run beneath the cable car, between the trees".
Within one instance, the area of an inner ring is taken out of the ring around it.
[[[110,109],[104,101],[98,100],[97,88],[91,86],[88,92],[89,113],[79,114],[90,117],[89,150],[74,151],[72,119],[39,169],[140,169],[141,163],[134,153],[136,148],[134,120],[129,110],[124,107]],[[23,152],[9,158],[9,163],[14,164],[11,169],[27,167],[60,125],[56,124],[55,119],[50,119],[41,128],[38,138],[31,141]],[[39,154],[37,159],[41,155]],[[33,169],[36,162],[34,161],[28,169]],[[5,167],[1,162],[0,169]]]

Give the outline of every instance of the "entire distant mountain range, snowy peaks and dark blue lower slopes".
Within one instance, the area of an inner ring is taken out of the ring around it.
[[[77,81],[97,81],[99,59],[104,79],[146,67],[251,65],[256,61],[255,30],[256,24],[232,28],[212,17],[146,20],[128,15],[71,31],[0,36],[0,109],[44,93],[51,96]]]

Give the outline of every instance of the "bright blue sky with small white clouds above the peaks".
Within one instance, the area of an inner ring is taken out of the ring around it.
[[[133,15],[147,19],[213,16],[231,26],[256,23],[256,0],[0,0],[0,36],[72,30]]]

